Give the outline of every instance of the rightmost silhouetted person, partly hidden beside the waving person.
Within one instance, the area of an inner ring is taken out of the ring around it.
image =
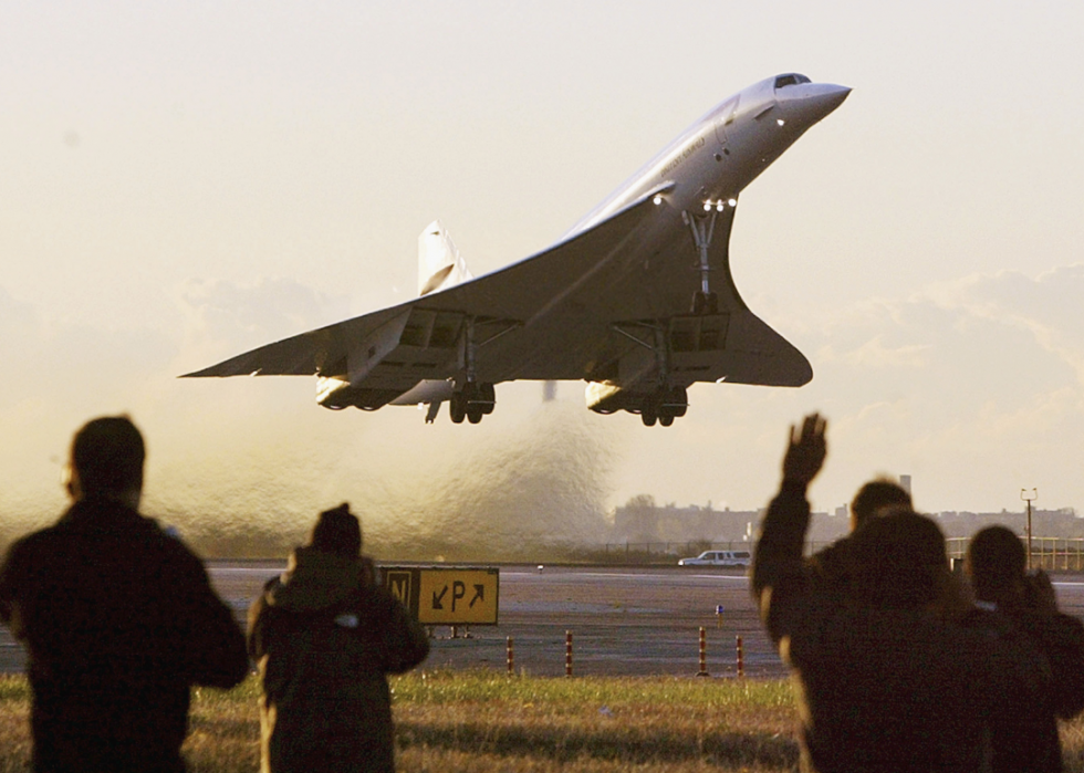
[[[1003,671],[1020,675],[1021,664],[1026,669],[992,718],[994,773],[1061,771],[1056,718],[1084,709],[1084,625],[1057,612],[1046,573],[1029,575],[1025,566],[1024,545],[1005,526],[987,526],[968,545],[965,572],[976,605],[965,625],[1011,648]]]

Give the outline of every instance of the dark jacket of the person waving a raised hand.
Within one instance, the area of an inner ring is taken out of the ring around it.
[[[989,637],[825,587],[802,558],[809,518],[804,488],[784,485],[752,567],[764,625],[794,671],[803,769],[986,770]]]

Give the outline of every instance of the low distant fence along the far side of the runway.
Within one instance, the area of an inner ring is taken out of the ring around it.
[[[953,536],[946,540],[949,558],[963,558],[970,537]],[[813,555],[832,544],[832,541],[810,540],[805,554]],[[679,558],[697,556],[703,551],[752,551],[755,542],[747,540],[685,542],[611,542],[590,555],[601,563],[668,564]],[[1031,539],[1032,568],[1047,571],[1084,572],[1084,537],[1033,536]]]

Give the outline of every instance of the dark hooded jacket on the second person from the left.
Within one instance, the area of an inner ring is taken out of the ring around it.
[[[386,673],[429,654],[425,630],[364,564],[299,547],[249,609],[263,679],[261,771],[395,770]]]

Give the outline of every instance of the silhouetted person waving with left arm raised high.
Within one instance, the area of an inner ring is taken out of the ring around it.
[[[949,575],[937,524],[907,511],[859,527],[847,598],[802,558],[824,430],[816,414],[791,428],[752,568],[764,625],[798,680],[803,770],[983,770],[1000,677],[989,637],[931,609]]]

